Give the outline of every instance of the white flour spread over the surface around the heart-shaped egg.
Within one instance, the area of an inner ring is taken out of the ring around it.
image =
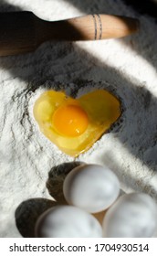
[[[120,0],[8,0],[0,11],[29,10],[47,20],[89,13],[137,16]],[[77,5],[77,3],[82,3]],[[136,35],[95,42],[47,42],[36,52],[0,58],[0,237],[20,237],[16,208],[29,198],[50,197],[46,182],[55,165],[74,161],[39,132],[33,105],[47,88],[78,97],[94,88],[117,94],[121,123],[78,161],[109,165],[126,192],[145,191],[157,201],[157,34],[139,16]]]

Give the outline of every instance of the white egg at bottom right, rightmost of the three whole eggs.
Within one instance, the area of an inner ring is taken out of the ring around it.
[[[157,205],[145,193],[123,195],[107,211],[102,227],[104,237],[152,237],[157,228]]]

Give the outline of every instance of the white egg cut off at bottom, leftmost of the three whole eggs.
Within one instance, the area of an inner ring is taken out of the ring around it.
[[[38,238],[100,238],[99,221],[88,212],[73,206],[48,209],[36,225]]]

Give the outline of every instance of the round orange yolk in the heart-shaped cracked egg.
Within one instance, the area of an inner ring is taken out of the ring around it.
[[[76,137],[84,133],[88,127],[87,113],[78,105],[64,105],[59,107],[52,117],[52,123],[58,133]]]

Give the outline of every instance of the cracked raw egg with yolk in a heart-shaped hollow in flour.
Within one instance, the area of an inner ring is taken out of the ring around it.
[[[120,117],[120,101],[109,91],[91,91],[78,99],[46,91],[35,102],[40,131],[71,156],[87,151]]]

